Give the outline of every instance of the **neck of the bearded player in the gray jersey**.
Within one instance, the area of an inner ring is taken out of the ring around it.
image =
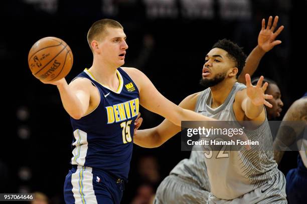
[[[225,102],[235,82],[233,79],[227,79],[210,87],[212,96],[211,108],[217,108]]]

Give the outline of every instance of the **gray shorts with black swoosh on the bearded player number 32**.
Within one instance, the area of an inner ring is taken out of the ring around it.
[[[285,178],[281,171],[268,180],[267,183],[257,187],[256,189],[241,195],[232,200],[219,199],[211,192],[208,197],[208,204],[237,204],[237,203],[287,203],[285,193]]]

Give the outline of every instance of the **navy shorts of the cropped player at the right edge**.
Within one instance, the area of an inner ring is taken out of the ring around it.
[[[286,176],[286,194],[289,203],[306,203],[307,168],[300,155],[297,156],[297,168],[289,170]]]

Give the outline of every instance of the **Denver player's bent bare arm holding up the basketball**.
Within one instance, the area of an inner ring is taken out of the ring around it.
[[[63,78],[48,84],[57,86],[64,109],[72,118],[80,119],[86,114],[89,108],[90,92],[94,88],[89,80],[78,78],[68,85]]]

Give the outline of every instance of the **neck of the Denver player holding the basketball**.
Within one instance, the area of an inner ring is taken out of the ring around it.
[[[119,79],[116,74],[117,68],[117,66],[112,66],[103,62],[97,63],[94,60],[92,67],[88,70],[97,82],[110,87],[112,90],[117,90],[119,86]]]

